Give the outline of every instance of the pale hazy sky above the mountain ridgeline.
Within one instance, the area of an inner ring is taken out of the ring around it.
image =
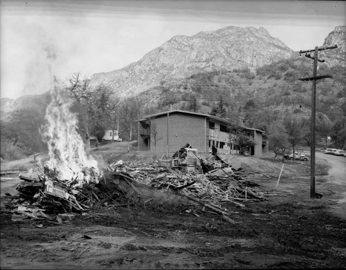
[[[53,73],[89,77],[138,61],[175,35],[264,27],[293,50],[322,46],[345,26],[346,1],[15,1],[1,4],[1,98],[49,90]]]

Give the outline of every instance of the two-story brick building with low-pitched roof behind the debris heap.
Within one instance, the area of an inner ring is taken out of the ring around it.
[[[138,151],[156,151],[171,155],[185,144],[209,153],[212,145],[218,153],[232,153],[234,134],[228,131],[228,120],[204,113],[169,110],[146,115],[138,120]],[[245,127],[244,127],[245,128]],[[255,139],[251,155],[261,156],[266,149],[263,131],[245,128]]]

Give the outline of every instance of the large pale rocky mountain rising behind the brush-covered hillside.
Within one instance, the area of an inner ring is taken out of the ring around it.
[[[228,26],[192,37],[173,37],[125,68],[92,75],[91,84],[103,83],[122,97],[137,95],[161,81],[214,70],[255,69],[292,54],[264,28]]]

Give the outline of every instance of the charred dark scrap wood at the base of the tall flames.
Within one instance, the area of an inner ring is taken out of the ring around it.
[[[50,175],[50,177],[48,177]],[[61,213],[85,213],[93,207],[127,206],[138,200],[138,192],[134,192],[134,180],[125,173],[106,176],[101,182],[89,182],[82,186],[69,184],[53,177],[53,173],[38,175],[39,179],[19,176],[24,182],[17,186],[18,195],[6,193],[10,201],[6,204],[12,220],[26,218],[35,220],[55,220]]]

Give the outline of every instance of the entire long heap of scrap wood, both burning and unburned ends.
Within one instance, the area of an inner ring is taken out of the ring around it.
[[[62,213],[83,213],[98,207],[110,210],[137,202],[164,201],[165,197],[174,195],[176,201],[201,204],[226,215],[221,202],[244,206],[239,201],[264,200],[256,190],[257,184],[246,180],[242,173],[230,166],[207,174],[183,173],[167,168],[158,160],[149,163],[120,160],[104,168],[98,183],[82,186],[57,180],[52,172],[39,175],[38,180],[20,177],[24,182],[17,187],[19,194],[11,196],[8,208],[14,213],[13,220],[54,220]]]

